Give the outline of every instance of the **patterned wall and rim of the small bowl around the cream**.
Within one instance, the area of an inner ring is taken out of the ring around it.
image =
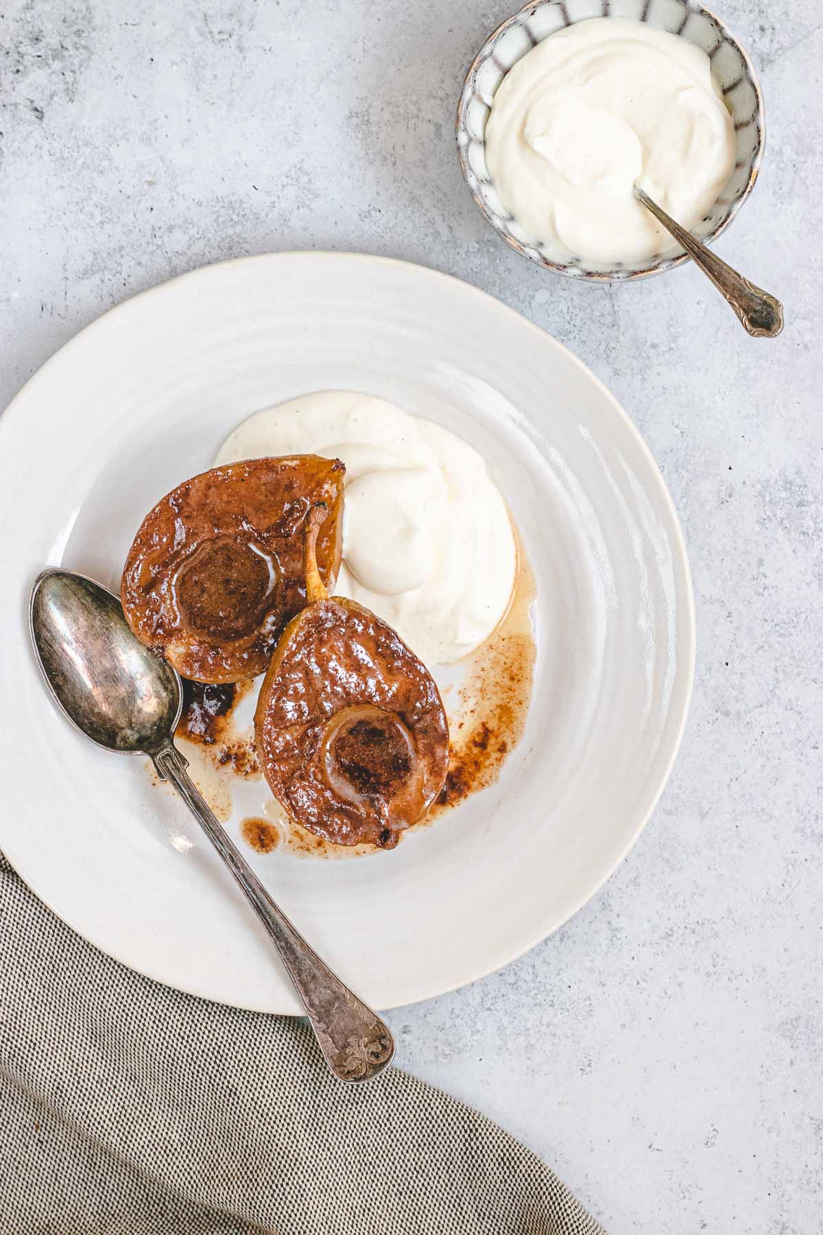
[[[765,146],[763,94],[751,61],[723,22],[692,0],[537,0],[498,26],[478,52],[460,95],[457,138],[460,167],[471,195],[498,236],[531,262],[575,279],[643,279],[687,261],[682,249],[598,268],[574,258],[558,262],[545,246],[526,235],[495,191],[486,168],[485,130],[497,86],[512,64],[564,26],[589,17],[631,17],[687,38],[708,54],[712,73],[734,121],[734,172],[695,235],[716,240],[726,231],[754,188]]]

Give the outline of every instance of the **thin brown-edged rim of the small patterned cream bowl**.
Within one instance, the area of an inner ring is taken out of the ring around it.
[[[482,47],[480,48],[480,51],[473,59],[471,64],[469,65],[469,70],[465,78],[463,79],[463,86],[460,89],[460,98],[458,100],[458,114],[454,127],[454,136],[458,147],[458,161],[460,163],[460,170],[463,172],[463,179],[465,180],[469,193],[474,198],[474,203],[480,210],[480,214],[485,217],[486,222],[491,225],[495,233],[500,236],[501,240],[505,240],[507,245],[511,245],[515,252],[519,253],[519,256],[526,258],[527,262],[532,262],[533,266],[542,266],[545,270],[552,270],[554,274],[563,274],[566,278],[577,279],[585,283],[632,283],[635,279],[648,279],[653,274],[663,274],[665,270],[674,270],[677,266],[682,266],[684,262],[691,261],[689,253],[681,253],[679,257],[668,257],[663,262],[656,262],[653,266],[638,267],[637,269],[632,269],[631,272],[622,274],[610,273],[608,270],[584,270],[579,266],[575,266],[573,263],[553,262],[550,258],[543,254],[539,254],[538,257],[532,257],[532,254],[527,252],[527,248],[529,248],[531,246],[521,243],[521,241],[516,240],[515,236],[510,236],[507,232],[502,232],[495,225],[495,221],[491,216],[491,212],[489,211],[489,207],[486,206],[486,203],[482,199],[482,195],[471,185],[469,174],[471,173],[474,175],[474,173],[469,167],[469,157],[468,157],[469,142],[466,142],[465,146],[460,143],[460,133],[466,127],[465,110],[468,107],[469,101],[475,94],[474,89],[469,91],[469,84],[471,82],[471,78],[474,77],[474,74],[476,74],[478,69],[480,68],[480,64],[489,57],[491,47],[495,43],[495,41],[500,38],[510,26],[513,26],[515,23],[524,23],[523,19],[524,12],[527,12],[528,10],[542,9],[547,4],[561,4],[561,2],[563,0],[531,0],[529,4],[522,5],[516,12],[511,15],[511,17],[506,17],[505,21],[501,21],[497,28],[494,30],[491,35],[489,35],[489,37],[484,41]],[[758,179],[758,173],[760,172],[760,164],[763,163],[764,151],[766,148],[766,115],[763,101],[763,90],[760,89],[760,82],[758,79],[758,74],[755,73],[754,64],[751,63],[749,53],[745,51],[739,40],[734,37],[734,35],[726,25],[726,22],[721,17],[718,17],[717,14],[712,12],[711,9],[706,9],[701,4],[695,4],[692,2],[692,0],[682,0],[682,4],[684,7],[687,9],[690,14],[697,14],[698,16],[708,17],[708,20],[714,23],[721,36],[716,46],[719,47],[722,42],[727,42],[734,48],[734,51],[743,61],[748,78],[751,82],[751,85],[754,86],[755,101],[756,101],[754,120],[759,135],[759,141],[758,141],[758,148],[755,149],[754,153],[754,158],[751,159],[751,170],[749,173],[749,179],[746,180],[744,189],[738,194],[737,199],[730,204],[730,209],[726,219],[716,227],[713,227],[709,232],[707,232],[706,236],[701,237],[705,245],[711,245],[713,243],[713,241],[717,240],[718,236],[723,235],[726,228],[732,222],[734,222],[740,207],[743,206],[743,203],[748,199],[749,194],[754,189],[755,182]],[[647,9],[649,5],[647,5]],[[611,16],[608,0],[605,0],[602,15],[605,17]],[[581,17],[580,20],[586,21],[589,19]],[[568,25],[576,26],[579,25],[579,22],[570,21],[568,22]],[[676,31],[677,37],[680,37],[681,31],[682,26],[680,27],[679,31]],[[545,37],[550,38],[552,36],[547,35]],[[543,42],[543,40],[539,40],[539,42]],[[508,69],[506,69],[506,72],[508,72]],[[745,75],[740,78],[740,82],[744,80]],[[739,82],[735,83],[735,85],[737,84],[739,84]]]

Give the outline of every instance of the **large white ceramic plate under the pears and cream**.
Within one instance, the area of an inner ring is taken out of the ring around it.
[[[497,785],[391,853],[250,857],[364,999],[391,1008],[470,982],[593,895],[663,789],[693,668],[686,550],[647,447],[585,366],[476,289],[380,258],[283,253],[174,279],[78,335],[0,419],[0,848],[126,965],[275,1013],[299,1011],[289,982],[183,805],[49,703],[27,599],[47,563],[117,589],[144,513],[210,467],[238,421],[334,388],[480,450],[538,585],[527,732]]]

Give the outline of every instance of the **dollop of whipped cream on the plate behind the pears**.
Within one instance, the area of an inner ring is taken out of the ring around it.
[[[300,453],[345,463],[336,593],[387,621],[426,664],[479,647],[517,577],[511,519],[482,456],[385,399],[323,390],[249,416],[215,464]]]

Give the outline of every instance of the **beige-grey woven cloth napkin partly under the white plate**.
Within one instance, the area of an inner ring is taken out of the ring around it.
[[[1,855],[0,946],[1,1235],[603,1235],[491,1120],[133,973]]]

